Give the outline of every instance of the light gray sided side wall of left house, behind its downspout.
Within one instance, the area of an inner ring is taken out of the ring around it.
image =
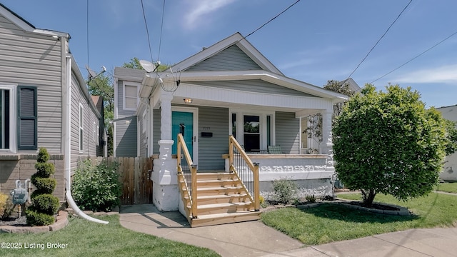
[[[96,156],[98,141],[94,141],[94,122],[99,124],[75,76],[71,76],[71,170],[74,170],[81,156]],[[79,104],[83,106],[83,151],[79,151]]]

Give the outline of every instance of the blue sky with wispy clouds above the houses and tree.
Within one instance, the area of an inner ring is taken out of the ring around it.
[[[237,31],[246,36],[295,1],[168,0],[160,40],[164,2],[144,0],[153,61],[175,64]],[[347,79],[408,2],[301,0],[247,39],[286,76],[323,86]],[[140,0],[89,1],[89,26],[87,1],[1,3],[36,28],[69,33],[84,76],[86,64],[112,72],[133,57],[151,61]],[[453,0],[413,0],[352,78],[363,86],[451,36],[456,10]],[[374,84],[388,82],[416,89],[427,106],[457,104],[457,35]]]

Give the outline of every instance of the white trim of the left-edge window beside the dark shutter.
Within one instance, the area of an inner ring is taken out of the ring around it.
[[[9,102],[10,102],[10,115],[9,115],[9,129],[11,134],[9,136],[9,149],[0,149],[0,153],[17,153],[17,130],[16,130],[16,117],[17,117],[17,84],[0,84],[0,89],[6,89],[10,91]]]

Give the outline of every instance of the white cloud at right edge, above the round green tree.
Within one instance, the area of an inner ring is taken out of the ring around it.
[[[457,83],[457,64],[412,71],[392,79],[396,83]]]

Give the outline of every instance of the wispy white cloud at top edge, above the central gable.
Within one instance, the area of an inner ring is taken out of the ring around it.
[[[212,14],[224,6],[232,4],[236,0],[200,0],[191,1],[191,6],[184,16],[184,26],[188,29],[196,28],[201,22],[210,24],[209,14]]]

